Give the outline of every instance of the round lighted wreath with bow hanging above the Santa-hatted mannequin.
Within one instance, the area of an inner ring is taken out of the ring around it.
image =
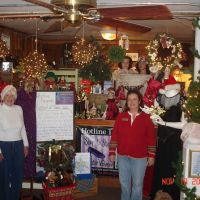
[[[149,64],[163,70],[166,67],[182,67],[179,63],[183,57],[182,45],[176,39],[168,34],[157,34],[146,47]]]

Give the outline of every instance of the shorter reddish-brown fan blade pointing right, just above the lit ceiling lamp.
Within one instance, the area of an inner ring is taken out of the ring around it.
[[[126,32],[139,32],[139,33],[146,33],[151,30],[150,27],[138,25],[138,24],[132,24],[116,19],[109,19],[104,18],[98,22],[95,22],[93,25],[101,26],[101,27],[111,27],[111,28],[117,28],[120,31],[126,31]]]

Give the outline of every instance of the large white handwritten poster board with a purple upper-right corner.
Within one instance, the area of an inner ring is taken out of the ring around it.
[[[37,92],[37,142],[73,140],[73,91]]]

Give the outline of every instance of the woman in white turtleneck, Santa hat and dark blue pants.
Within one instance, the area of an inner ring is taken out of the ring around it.
[[[0,199],[18,200],[23,180],[24,158],[28,155],[28,140],[23,111],[14,105],[16,88],[6,85],[0,104]]]

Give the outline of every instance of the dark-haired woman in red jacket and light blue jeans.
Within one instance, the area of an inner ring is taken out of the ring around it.
[[[114,161],[117,148],[121,200],[142,200],[145,170],[154,164],[155,128],[142,104],[137,90],[128,92],[126,111],[118,115],[111,136],[109,156]]]

